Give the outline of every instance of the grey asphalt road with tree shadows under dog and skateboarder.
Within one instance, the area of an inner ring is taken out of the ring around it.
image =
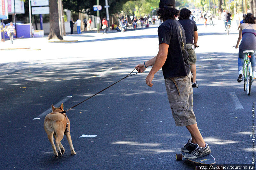
[[[238,32],[233,25],[226,35],[223,27],[222,22],[207,28],[198,23],[199,87],[194,89],[193,109],[217,164],[251,164],[256,82],[250,96],[237,82],[238,49],[232,46]],[[77,154],[70,155],[64,137],[65,154],[53,157],[43,128],[51,104],[74,106],[125,77],[158,50],[157,26],[65,39],[78,41],[48,43],[36,38],[0,44],[31,47],[0,51],[0,169],[194,169],[196,164],[175,160],[190,134],[175,126],[162,71],[156,73],[153,87],[145,84],[150,68],[70,110]],[[80,138],[83,134],[97,136]]]

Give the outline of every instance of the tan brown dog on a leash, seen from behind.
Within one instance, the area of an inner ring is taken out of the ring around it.
[[[72,144],[71,136],[70,136],[70,122],[68,117],[65,117],[65,113],[64,114],[60,113],[62,111],[64,111],[63,103],[61,104],[60,107],[57,107],[57,108],[55,108],[52,105],[52,113],[49,113],[44,118],[44,130],[47,133],[48,139],[52,144],[53,155],[55,157],[62,156],[62,154],[64,154],[65,152],[64,147],[60,143],[60,141],[63,139],[64,134],[68,139],[71,154],[76,155],[76,152]],[[68,127],[66,129],[67,122],[68,122]],[[56,147],[53,142],[53,136],[55,138],[55,143],[56,143],[58,152],[56,151]]]

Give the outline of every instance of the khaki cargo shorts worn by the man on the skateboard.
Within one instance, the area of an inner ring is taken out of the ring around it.
[[[164,79],[176,126],[188,126],[196,123],[191,77],[191,73],[189,73],[185,77]]]

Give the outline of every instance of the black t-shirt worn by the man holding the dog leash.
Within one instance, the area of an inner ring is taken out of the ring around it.
[[[186,51],[185,31],[176,19],[168,19],[158,27],[159,45],[169,45],[162,67],[164,78],[187,76],[190,72]]]

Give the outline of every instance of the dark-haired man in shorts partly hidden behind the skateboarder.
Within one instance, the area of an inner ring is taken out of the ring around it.
[[[187,8],[183,8],[180,10],[180,16],[179,16],[179,22],[182,25],[183,29],[185,30],[185,36],[186,36],[186,46],[187,46],[187,52],[188,52],[188,63],[190,64],[190,70],[193,74],[192,78],[192,87],[197,88],[198,84],[196,81],[196,53],[195,53],[195,47],[197,46],[197,39],[198,39],[198,33],[197,33],[197,26],[195,21],[191,21],[189,19],[191,15],[191,11]]]

